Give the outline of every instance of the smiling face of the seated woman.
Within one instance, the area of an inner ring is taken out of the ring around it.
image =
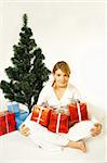
[[[61,68],[58,68],[53,76],[57,87],[67,86],[69,77]]]

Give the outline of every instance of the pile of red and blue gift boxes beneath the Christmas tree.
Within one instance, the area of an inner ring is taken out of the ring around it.
[[[0,112],[0,136],[18,129],[28,114],[28,112],[19,110],[17,102],[9,102],[8,111]]]

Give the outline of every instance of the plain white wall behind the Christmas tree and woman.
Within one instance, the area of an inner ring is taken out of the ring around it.
[[[103,1],[0,1],[0,80],[8,79],[4,68],[12,65],[13,45],[17,45],[22,16],[52,70],[61,60],[69,63],[70,82],[82,98],[105,108],[105,4]],[[0,91],[0,106],[5,99]]]

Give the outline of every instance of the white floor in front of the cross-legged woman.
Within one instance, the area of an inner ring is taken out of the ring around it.
[[[104,163],[104,134],[86,140],[86,153],[76,149],[44,151],[16,130],[0,137],[0,163]]]

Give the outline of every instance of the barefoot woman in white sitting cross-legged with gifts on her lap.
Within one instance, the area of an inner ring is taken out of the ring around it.
[[[57,62],[53,67],[54,82],[43,87],[40,92],[37,104],[43,102],[53,106],[67,105],[71,101],[79,99],[78,89],[69,84],[70,68],[64,61]],[[45,127],[30,121],[31,114],[21,126],[19,131],[24,136],[30,135],[37,145],[42,148],[75,148],[82,152],[86,151],[84,138],[88,136],[97,136],[102,130],[102,124],[91,116],[90,121],[70,124],[68,134],[54,134]],[[93,121],[94,120],[94,121]],[[86,126],[86,128],[85,128]],[[52,146],[51,146],[52,145]]]

